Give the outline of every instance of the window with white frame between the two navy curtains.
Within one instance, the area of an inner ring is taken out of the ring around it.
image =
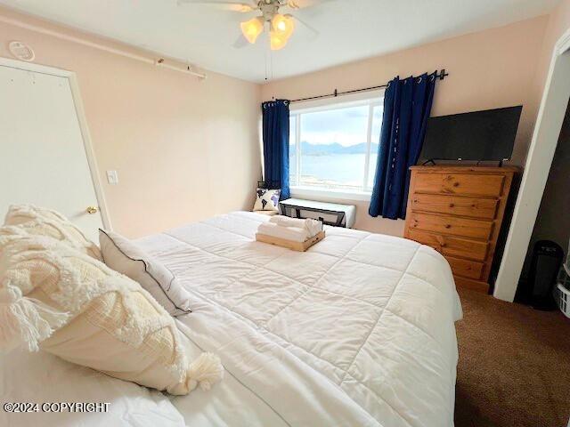
[[[383,93],[315,107],[293,105],[289,118],[292,189],[371,193],[376,172]],[[346,100],[346,98],[345,98]]]

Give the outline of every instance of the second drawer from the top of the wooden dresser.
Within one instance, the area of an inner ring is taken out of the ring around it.
[[[497,212],[496,198],[440,196],[437,194],[413,194],[411,209],[493,220]]]

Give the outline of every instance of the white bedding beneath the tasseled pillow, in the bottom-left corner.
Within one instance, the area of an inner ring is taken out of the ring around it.
[[[35,403],[31,412],[12,413],[10,403]],[[107,412],[60,411],[62,403],[109,403]],[[52,354],[14,350],[0,357],[2,427],[181,427],[183,416],[167,396],[79,367]],[[53,404],[47,407],[42,404]]]

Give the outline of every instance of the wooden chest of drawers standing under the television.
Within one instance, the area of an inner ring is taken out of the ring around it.
[[[404,237],[443,254],[458,286],[488,292],[493,254],[517,170],[412,166]]]

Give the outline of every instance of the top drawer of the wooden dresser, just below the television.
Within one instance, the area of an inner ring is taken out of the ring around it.
[[[419,193],[444,193],[465,196],[501,196],[503,175],[471,173],[419,173],[414,191]]]

